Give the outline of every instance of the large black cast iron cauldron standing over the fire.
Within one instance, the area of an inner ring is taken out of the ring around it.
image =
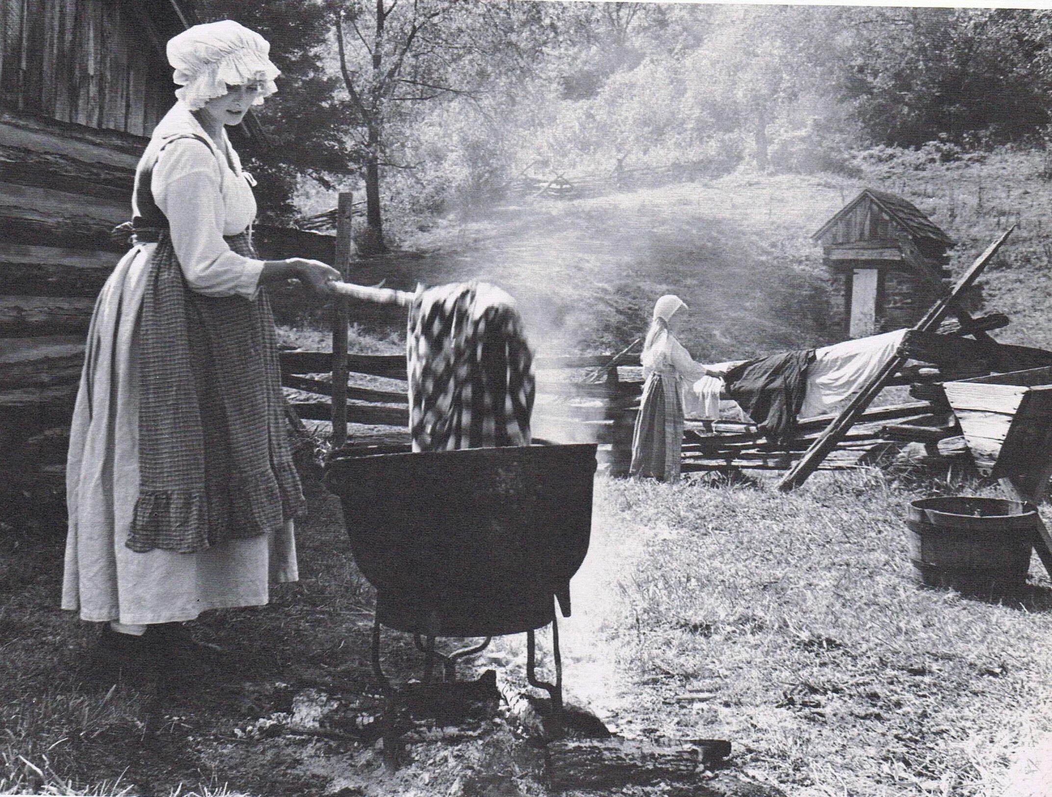
[[[594,471],[594,444],[533,445],[338,458],[326,482],[377,589],[378,627],[532,641],[554,620],[552,596],[570,613]]]

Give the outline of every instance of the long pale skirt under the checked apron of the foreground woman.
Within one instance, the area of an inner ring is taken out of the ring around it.
[[[156,246],[133,248],[99,294],[74,410],[62,608],[96,622],[171,622],[262,606],[271,579],[298,578],[291,522],[281,533],[198,553],[125,546],[139,495],[136,327]]]

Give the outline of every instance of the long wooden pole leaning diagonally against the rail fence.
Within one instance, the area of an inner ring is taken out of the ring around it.
[[[976,259],[971,268],[960,278],[950,294],[936,302],[917,323],[915,329],[927,331],[937,328],[938,324],[946,318],[955,299],[971,287],[975,280],[978,279],[979,274],[987,267],[987,264],[993,260],[993,256],[997,253],[1002,244],[1008,240],[1013,229],[1015,229],[1014,226],[1009,227],[1003,236],[998,237],[996,241],[987,247],[987,250]],[[829,425],[801,461],[782,478],[778,483],[780,490],[792,490],[807,481],[807,477],[814,472],[826,455],[835,448],[841,435],[847,432],[855,421],[862,416],[877,393],[884,389],[887,381],[906,364],[907,360],[908,357],[897,354],[889,360],[879,371],[873,374],[848,407]]]

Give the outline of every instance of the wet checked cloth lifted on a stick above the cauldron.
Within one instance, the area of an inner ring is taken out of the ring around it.
[[[413,451],[525,446],[533,354],[503,291],[477,283],[420,292],[406,349]]]

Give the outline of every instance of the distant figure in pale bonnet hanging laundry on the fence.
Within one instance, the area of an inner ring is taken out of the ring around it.
[[[632,435],[629,473],[665,482],[680,478],[683,447],[683,390],[702,376],[719,375],[695,363],[675,339],[687,305],[668,293],[654,304],[643,343],[643,402]]]

